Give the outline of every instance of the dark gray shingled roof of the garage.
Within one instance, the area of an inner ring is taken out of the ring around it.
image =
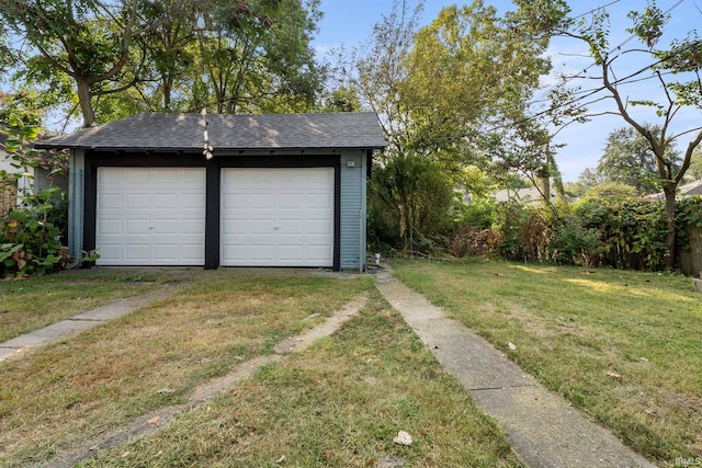
[[[139,114],[37,142],[37,148],[202,150],[200,114]],[[385,147],[375,113],[207,115],[210,145],[226,149]]]

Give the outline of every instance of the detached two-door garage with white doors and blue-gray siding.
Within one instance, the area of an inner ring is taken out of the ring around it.
[[[140,114],[37,147],[71,149],[71,258],[365,269],[374,113]]]

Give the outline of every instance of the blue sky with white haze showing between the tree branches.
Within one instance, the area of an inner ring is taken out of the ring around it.
[[[406,0],[408,4],[415,4],[412,0]],[[439,14],[443,7],[451,4],[466,4],[468,2],[426,0],[422,14],[422,25],[429,24]],[[507,0],[485,0],[486,4],[492,4],[499,12],[514,10],[511,1]],[[619,46],[630,39],[631,34],[625,30],[631,26],[631,20],[626,13],[631,10],[643,11],[646,0],[570,0],[571,14],[578,15],[590,10],[608,5],[607,10],[611,18],[610,45]],[[689,31],[694,31],[702,24],[702,0],[658,0],[658,8],[664,11],[670,10],[671,20],[666,27],[667,34],[661,39],[660,46],[667,46],[673,38],[683,38]],[[344,45],[346,47],[358,46],[371,37],[373,25],[382,21],[383,15],[392,12],[393,0],[321,0],[320,10],[324,19],[319,23],[319,33],[315,38],[314,46],[320,56],[328,50]],[[668,31],[670,33],[668,33]],[[636,39],[627,42],[623,48],[638,46]],[[587,56],[587,47],[575,39],[556,39],[548,48],[555,72],[575,72],[587,69],[588,77],[596,77],[597,67],[590,67],[592,59]],[[624,56],[616,61],[618,77],[624,77],[634,71],[650,65],[650,60],[644,55]],[[590,68],[588,68],[590,67]],[[647,75],[642,75],[645,77]],[[553,76],[544,77],[543,90],[535,93],[536,98],[542,98],[543,93],[555,82]],[[592,79],[574,80],[570,83],[579,84],[584,89],[591,89],[600,82]],[[623,89],[624,94],[632,100],[652,99],[660,95],[661,88],[655,80],[645,80],[631,84]],[[604,95],[604,94],[602,94]],[[613,110],[613,104],[600,103],[591,106],[596,113]],[[642,107],[634,109],[635,115],[641,119],[655,124],[655,114]],[[702,113],[700,111],[687,112],[676,117],[676,128],[680,130],[702,126]],[[607,144],[607,137],[613,129],[621,128],[627,124],[621,116],[603,115],[597,116],[586,124],[571,124],[562,129],[555,138],[556,144],[565,144],[558,149],[556,162],[563,173],[564,181],[575,182],[586,168],[597,167],[599,158]],[[687,147],[689,138],[680,137],[678,149]]]

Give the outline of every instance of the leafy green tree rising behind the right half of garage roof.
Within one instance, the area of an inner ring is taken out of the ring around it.
[[[211,2],[202,56],[215,112],[301,112],[316,103],[324,70],[310,47],[319,0]]]

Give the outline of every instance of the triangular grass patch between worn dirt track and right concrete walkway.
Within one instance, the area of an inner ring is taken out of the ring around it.
[[[400,430],[412,435],[411,446],[392,442]],[[160,432],[81,466],[521,464],[496,424],[374,294],[335,335],[264,366]]]

